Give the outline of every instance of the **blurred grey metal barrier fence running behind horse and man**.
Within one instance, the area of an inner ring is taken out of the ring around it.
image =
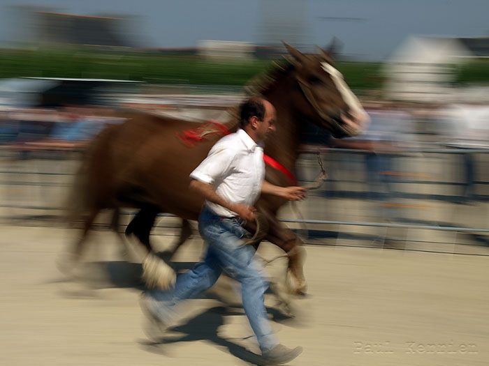
[[[305,201],[286,206],[281,218],[307,243],[483,247],[489,244],[488,153],[429,148],[383,155],[330,148],[320,154],[328,180]],[[78,162],[75,151],[1,151],[1,218],[62,215]],[[319,172],[316,153],[300,155],[296,169],[299,181],[312,181]],[[471,237],[462,240],[461,234]]]

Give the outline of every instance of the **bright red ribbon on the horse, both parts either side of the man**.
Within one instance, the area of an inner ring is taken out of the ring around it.
[[[215,131],[209,130],[210,126],[216,127],[217,130]],[[229,135],[231,132],[228,131],[225,125],[217,121],[208,121],[206,123],[202,123],[198,125],[196,128],[191,128],[190,130],[184,130],[182,131],[181,134],[177,132],[177,137],[180,140],[182,140],[182,142],[187,146],[194,147],[198,142],[207,139],[205,136],[210,135],[211,133],[220,133],[224,136],[224,135]],[[263,160],[265,161],[266,165],[272,167],[273,169],[282,171],[282,173],[284,173],[287,176],[287,178],[290,179],[293,185],[297,185],[297,181],[295,180],[295,177],[293,176],[291,171],[289,171],[289,169],[284,167],[284,165],[280,164],[279,162],[277,162],[277,160],[265,154],[263,154]]]

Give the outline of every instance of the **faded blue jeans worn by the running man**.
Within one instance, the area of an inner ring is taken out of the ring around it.
[[[154,313],[168,321],[175,305],[210,289],[224,270],[241,283],[242,302],[249,323],[261,350],[267,351],[279,343],[263,303],[268,282],[261,275],[263,267],[254,257],[254,247],[241,240],[246,232],[242,223],[242,220],[221,218],[204,207],[198,218],[198,230],[208,244],[205,260],[179,275],[173,291],[156,290],[149,296],[157,301]]]

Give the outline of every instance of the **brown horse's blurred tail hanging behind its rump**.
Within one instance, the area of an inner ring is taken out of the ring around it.
[[[96,208],[95,192],[92,192],[93,187],[90,179],[94,174],[94,163],[100,158],[98,156],[99,151],[110,140],[116,127],[117,125],[110,125],[104,128],[89,142],[85,151],[82,152],[80,166],[75,173],[71,190],[68,192],[64,204],[68,224],[73,224],[84,218],[85,215]],[[105,149],[103,151],[108,153]]]

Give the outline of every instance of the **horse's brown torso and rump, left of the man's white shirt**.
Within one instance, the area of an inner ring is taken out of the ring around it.
[[[189,174],[207,156],[217,137],[187,146],[182,132],[196,123],[143,113],[103,130],[90,148],[89,190],[98,206],[135,200],[161,211],[196,218],[202,199],[189,190]],[[135,198],[137,197],[137,198]]]

